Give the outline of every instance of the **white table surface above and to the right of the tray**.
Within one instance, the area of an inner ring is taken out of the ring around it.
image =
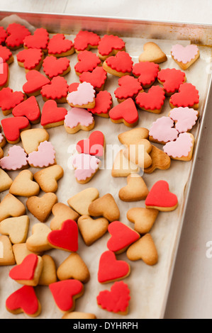
[[[0,0],[0,10],[208,23],[211,24],[212,31],[211,0]],[[211,142],[212,117],[208,113],[201,137],[201,149],[199,149],[194,181],[191,186],[165,319],[212,318]]]

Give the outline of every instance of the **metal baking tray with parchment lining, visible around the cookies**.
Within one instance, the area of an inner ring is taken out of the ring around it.
[[[176,193],[179,197],[179,207],[174,212],[160,213],[157,218],[157,222],[152,227],[151,234],[155,241],[157,250],[159,252],[159,262],[153,267],[145,265],[142,261],[130,262],[126,259],[125,254],[118,256],[118,259],[123,259],[128,261],[131,266],[131,273],[128,278],[123,281],[128,283],[130,288],[130,307],[128,315],[124,319],[130,318],[162,318],[164,317],[164,310],[167,303],[167,295],[169,293],[169,286],[172,279],[172,272],[174,269],[174,262],[177,255],[177,248],[179,245],[179,238],[182,231],[182,225],[184,219],[186,218],[186,204],[189,201],[189,190],[191,188],[191,181],[194,174],[194,168],[196,164],[196,159],[198,157],[199,142],[201,139],[201,133],[203,132],[204,118],[206,115],[208,99],[210,98],[211,91],[211,74],[210,74],[210,62],[211,62],[211,46],[212,46],[212,35],[210,25],[199,25],[196,23],[185,24],[185,23],[174,23],[174,22],[161,22],[161,21],[139,21],[128,18],[107,18],[107,17],[94,17],[94,16],[72,16],[67,14],[50,14],[50,13],[26,13],[26,12],[1,12],[0,20],[4,19],[2,22],[6,24],[5,18],[10,16],[9,20],[12,21],[22,21],[23,24],[26,23],[31,29],[44,27],[49,33],[65,33],[73,40],[74,35],[81,29],[92,30],[99,35],[104,34],[114,34],[119,35],[123,40],[126,41],[126,49],[128,51],[128,45],[133,41],[131,48],[129,49],[130,55],[132,55],[133,60],[138,61],[138,55],[143,50],[143,44],[147,40],[156,41],[156,43],[162,46],[162,49],[166,49],[167,54],[169,54],[170,46],[177,40],[180,40],[182,44],[185,43],[196,43],[200,47],[201,60],[198,60],[200,67],[198,70],[195,68],[195,64],[191,66],[191,69],[186,71],[186,75],[191,75],[190,80],[192,84],[196,85],[197,89],[201,86],[200,91],[200,117],[198,123],[194,129],[194,135],[196,139],[194,156],[191,162],[172,162],[173,167],[167,171],[157,170],[153,174],[144,174],[144,179],[148,188],[155,183],[158,179],[167,179],[171,191]],[[14,53],[16,54],[16,52]],[[16,58],[16,57],[15,57]],[[77,62],[77,55],[70,56],[69,59],[73,60],[73,64]],[[169,65],[176,67],[176,64],[172,62],[169,56],[169,62],[161,64],[161,68],[167,68]],[[196,62],[196,64],[198,64]],[[72,81],[79,81],[77,75],[74,73],[73,64],[71,64],[72,72],[68,74],[65,78],[67,83],[70,84]],[[10,66],[17,67],[17,64],[12,64]],[[10,67],[12,68],[12,67]],[[23,69],[18,68],[18,73],[20,74],[20,80],[17,83],[14,77],[11,76],[11,81],[9,86],[12,89],[21,90],[22,84],[25,81],[25,73]],[[201,77],[197,74],[200,71],[205,70],[203,73],[203,82]],[[13,73],[12,73],[13,75]],[[196,79],[196,81],[194,80]],[[118,80],[118,79],[117,79]],[[117,86],[116,80],[116,86]],[[193,81],[194,80],[194,81]],[[18,86],[19,84],[19,86]],[[110,91],[110,85],[107,84],[105,89]],[[110,92],[113,95],[112,89]],[[113,102],[115,98],[113,95]],[[40,96],[38,97],[38,103],[40,107],[43,106],[43,101]],[[65,104],[67,107],[67,104]],[[150,123],[155,121],[158,117],[162,115],[167,115],[169,107],[166,106],[164,111],[160,115],[153,115],[151,113],[140,113],[140,123],[138,126],[150,128]],[[2,118],[2,116],[1,116]],[[102,130],[106,134],[106,144],[112,144],[118,142],[118,134],[128,130],[125,125],[117,125],[111,123],[110,120],[103,120],[100,118],[95,118],[96,126],[95,129]],[[108,122],[108,123],[107,123]],[[108,128],[106,128],[106,125]],[[36,125],[40,127],[40,125]],[[67,199],[74,195],[75,193],[82,191],[82,189],[94,186],[99,189],[100,196],[103,196],[108,191],[113,194],[118,207],[121,210],[121,221],[125,224],[133,227],[133,224],[128,222],[126,219],[126,212],[129,208],[144,206],[143,202],[138,203],[123,203],[118,198],[118,191],[121,187],[125,186],[125,178],[113,179],[111,176],[111,170],[101,170],[98,174],[94,176],[88,184],[79,185],[74,179],[74,174],[72,170],[67,168],[67,159],[71,150],[69,149],[70,144],[76,143],[82,138],[87,138],[89,133],[80,131],[76,135],[68,135],[66,132],[63,137],[63,141],[60,142],[64,146],[63,149],[57,149],[58,146],[58,135],[60,132],[65,130],[60,128],[52,128],[48,130],[50,132],[50,141],[55,146],[57,164],[60,164],[65,169],[65,176],[60,180],[59,189],[57,191],[57,197],[59,202],[67,203]],[[113,132],[113,135],[110,133]],[[108,137],[107,137],[108,135]],[[108,138],[108,140],[107,140]],[[60,141],[60,140],[59,140]],[[67,143],[68,142],[68,145]],[[8,149],[9,145],[6,146]],[[158,145],[158,147],[162,147]],[[5,150],[6,152],[6,150]],[[37,171],[31,168],[32,171]],[[180,174],[180,176],[179,176]],[[178,179],[182,176],[181,188],[178,184]],[[12,171],[10,173],[11,178],[15,178],[16,172]],[[105,181],[106,179],[106,181]],[[106,186],[108,183],[108,186]],[[67,184],[69,184],[67,186]],[[179,189],[179,191],[178,191]],[[4,198],[6,193],[0,193],[0,198]],[[20,198],[23,203],[25,200]],[[30,215],[30,227],[38,222],[33,215]],[[47,224],[49,224],[52,217],[49,218]],[[30,230],[28,235],[30,235]],[[77,311],[84,312],[94,312],[97,318],[118,318],[123,319],[123,316],[113,314],[113,312],[107,312],[105,310],[99,309],[96,304],[96,296],[99,294],[100,290],[107,289],[111,287],[111,283],[106,285],[101,285],[97,281],[97,268],[99,263],[99,256],[102,252],[106,251],[106,242],[108,240],[108,235],[99,239],[91,247],[87,248],[79,237],[79,254],[82,259],[86,262],[89,271],[91,273],[91,279],[85,285],[85,293],[82,298],[79,298],[76,303]],[[50,250],[47,252],[55,259],[56,266],[58,266],[66,257],[67,253],[59,250]],[[1,267],[1,278],[0,278],[0,317],[1,318],[16,318],[16,316],[11,315],[5,310],[5,300],[14,290],[19,288],[19,285],[9,279],[8,274],[10,266]],[[5,286],[5,281],[7,281]],[[36,287],[36,293],[42,305],[42,312],[38,318],[60,318],[62,317],[60,310],[57,309],[50,290],[48,287],[38,286]],[[26,315],[18,315],[18,318],[28,318]]]

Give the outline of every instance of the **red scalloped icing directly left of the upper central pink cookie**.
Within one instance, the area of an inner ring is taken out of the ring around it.
[[[40,94],[48,99],[60,99],[67,96],[68,88],[64,77],[53,77],[49,84],[42,87]]]

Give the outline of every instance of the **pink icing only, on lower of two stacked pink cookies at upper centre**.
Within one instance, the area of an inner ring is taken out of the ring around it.
[[[65,125],[75,128],[77,125],[89,126],[94,123],[94,117],[84,108],[72,108],[65,116]]]

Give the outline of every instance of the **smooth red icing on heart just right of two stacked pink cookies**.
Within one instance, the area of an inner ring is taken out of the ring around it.
[[[138,121],[138,110],[132,98],[127,98],[122,103],[111,108],[109,116],[113,120],[125,120],[126,123],[133,124]]]

